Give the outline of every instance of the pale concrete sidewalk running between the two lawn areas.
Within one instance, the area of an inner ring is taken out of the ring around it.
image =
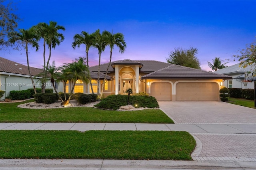
[[[0,123],[0,130],[172,130],[204,134],[256,134],[256,124]]]

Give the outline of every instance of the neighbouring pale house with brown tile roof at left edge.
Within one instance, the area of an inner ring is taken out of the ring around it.
[[[42,77],[36,76],[42,73],[42,69],[30,67],[30,71],[34,78],[36,88],[41,88]],[[10,61],[0,57],[0,90],[6,91],[1,99],[5,99],[10,95],[12,90],[26,90],[33,88],[30,75],[28,73],[28,66]],[[63,83],[56,83],[57,91],[63,91]],[[50,80],[46,83],[47,89],[53,89]]]

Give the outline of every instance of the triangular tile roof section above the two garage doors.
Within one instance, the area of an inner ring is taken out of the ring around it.
[[[181,65],[169,65],[141,77],[141,79],[231,79],[232,77]]]

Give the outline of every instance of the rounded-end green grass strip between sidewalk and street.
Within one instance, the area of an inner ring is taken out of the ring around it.
[[[188,132],[0,130],[0,158],[192,160]]]

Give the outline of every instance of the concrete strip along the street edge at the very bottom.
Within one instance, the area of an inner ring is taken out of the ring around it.
[[[1,170],[255,170],[255,162],[2,159]]]

